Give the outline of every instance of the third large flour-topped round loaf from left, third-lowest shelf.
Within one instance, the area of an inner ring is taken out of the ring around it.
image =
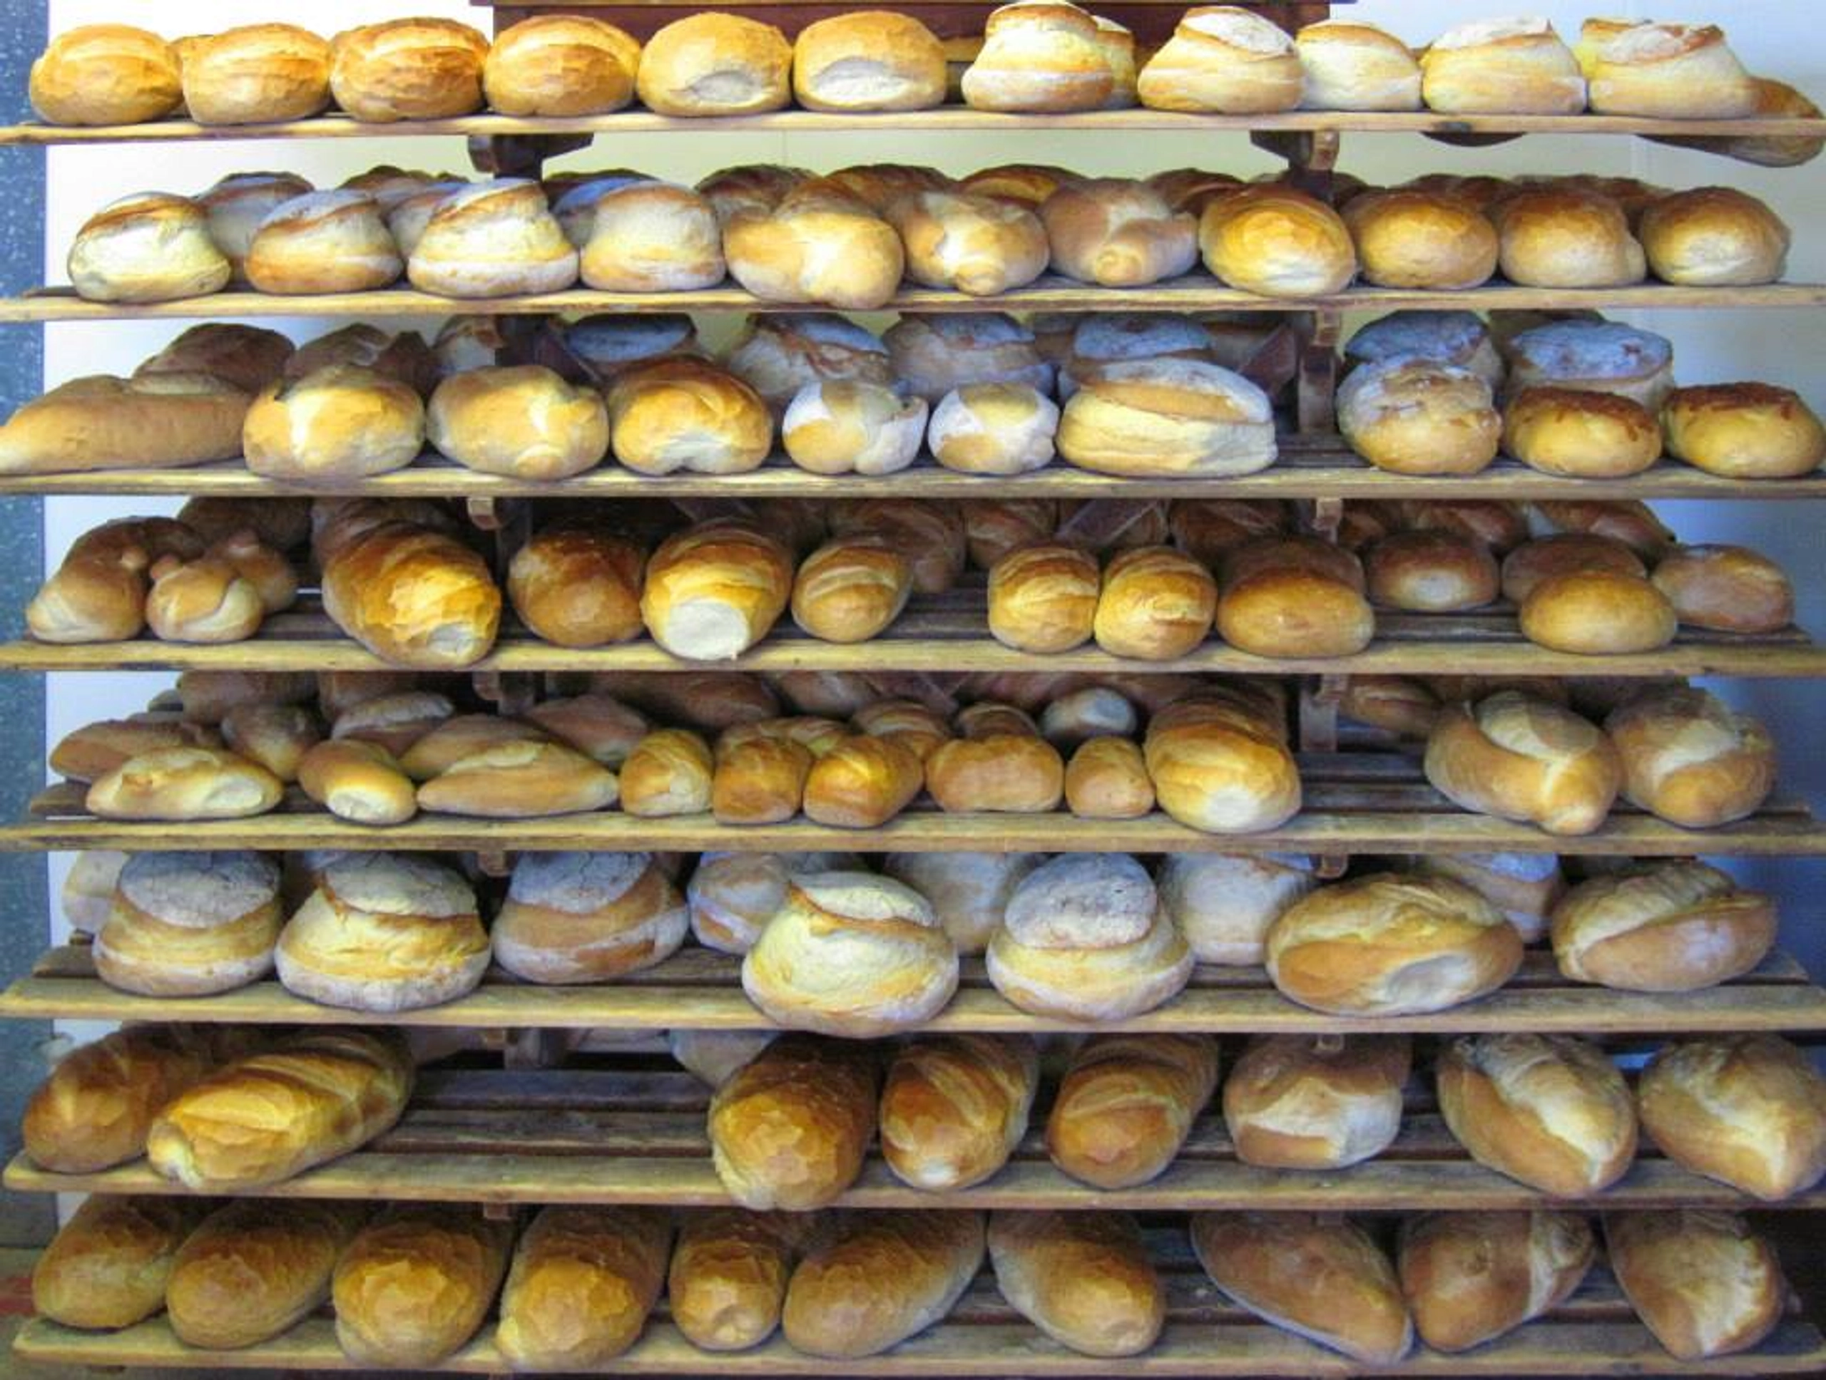
[[[672,957],[688,918],[650,852],[522,852],[489,936],[526,982],[610,982]]]

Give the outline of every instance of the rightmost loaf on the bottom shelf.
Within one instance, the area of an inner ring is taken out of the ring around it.
[[[1678,1360],[1749,1351],[1782,1320],[1782,1265],[1735,1212],[1607,1212],[1603,1239],[1623,1298]]]

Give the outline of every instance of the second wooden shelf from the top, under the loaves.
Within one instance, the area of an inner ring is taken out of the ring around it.
[[[1621,288],[1530,288],[1497,283],[1466,292],[1421,292],[1411,288],[1348,288],[1322,298],[1262,298],[1223,287],[1209,274],[1187,274],[1145,288],[1096,288],[1048,274],[1037,283],[995,298],[971,298],[940,288],[902,288],[882,310],[900,312],[1298,312],[1371,310],[1397,307],[1488,310],[1563,310],[1605,307],[1738,308],[1826,307],[1826,285],[1769,283],[1766,287],[1693,288],[1642,283]],[[760,301],[740,287],[696,292],[597,292],[568,288],[513,298],[440,298],[411,287],[376,292],[331,292],[281,298],[265,292],[215,292],[208,298],[142,305],[84,301],[66,287],[33,288],[24,298],[0,298],[0,323],[9,321],[144,321],[144,319],[243,319],[274,316],[332,318],[444,318],[528,316],[551,312],[802,312],[805,303]]]

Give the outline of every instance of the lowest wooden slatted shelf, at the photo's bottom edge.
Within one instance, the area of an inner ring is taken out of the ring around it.
[[[197,1369],[358,1371],[336,1345],[334,1323],[307,1318],[290,1333],[243,1351],[201,1351],[179,1342],[163,1318],[119,1333],[79,1333],[33,1320],[13,1351],[22,1360],[75,1365]],[[1634,1322],[1536,1322],[1464,1354],[1417,1349],[1395,1365],[1366,1367],[1264,1323],[1174,1323],[1147,1356],[1123,1362],[1081,1356],[1021,1323],[940,1323],[884,1356],[822,1360],[772,1338],[752,1351],[701,1353],[672,1323],[654,1323],[601,1375],[816,1375],[816,1376],[1521,1376],[1521,1375],[1817,1375],[1826,1338],[1784,1322],[1755,1351],[1695,1365],[1674,1360]],[[506,1375],[511,1367],[486,1334],[438,1365],[446,1375]]]

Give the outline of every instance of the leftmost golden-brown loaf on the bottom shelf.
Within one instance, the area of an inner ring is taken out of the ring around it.
[[[64,1327],[131,1327],[164,1305],[172,1261],[205,1203],[86,1199],[31,1269],[31,1307]]]

